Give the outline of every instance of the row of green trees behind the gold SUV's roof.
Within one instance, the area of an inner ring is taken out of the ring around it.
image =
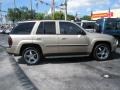
[[[73,15],[67,15],[68,20],[74,20]],[[30,19],[49,19],[51,20],[51,15],[45,16],[43,13],[36,13],[35,10],[29,10],[27,7],[21,8],[9,8],[8,9],[8,17],[11,21],[21,21],[21,20],[30,20]],[[55,12],[54,19],[55,20],[64,20],[65,16],[63,12]]]

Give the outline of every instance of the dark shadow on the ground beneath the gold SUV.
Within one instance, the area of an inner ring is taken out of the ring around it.
[[[108,61],[113,61],[116,59],[120,59],[120,53],[114,53],[111,55]],[[43,59],[41,64],[64,64],[64,63],[79,63],[79,62],[90,62],[95,61],[92,57],[73,57],[73,58],[51,58],[51,59]],[[19,64],[25,64],[25,61],[20,57],[18,59]],[[39,64],[40,65],[40,64]]]

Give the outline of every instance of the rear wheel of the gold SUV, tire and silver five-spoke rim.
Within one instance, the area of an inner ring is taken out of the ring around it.
[[[40,52],[34,47],[28,47],[24,49],[22,53],[22,58],[28,65],[36,65],[41,61]]]

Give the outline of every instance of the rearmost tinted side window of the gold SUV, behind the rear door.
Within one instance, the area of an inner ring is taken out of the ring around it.
[[[30,34],[35,22],[26,22],[26,23],[19,23],[13,30],[11,34]]]

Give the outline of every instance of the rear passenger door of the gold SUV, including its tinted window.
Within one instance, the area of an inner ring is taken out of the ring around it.
[[[34,43],[39,43],[45,55],[51,55],[58,52],[58,36],[56,35],[56,22],[40,22]]]

